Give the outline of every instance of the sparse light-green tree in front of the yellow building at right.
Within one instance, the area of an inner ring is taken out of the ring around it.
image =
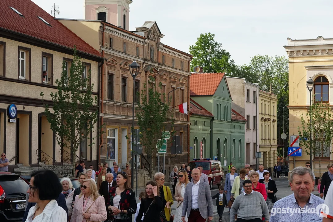
[[[329,157],[331,153],[333,138],[333,121],[331,117],[331,108],[327,103],[313,103],[306,113],[306,120],[302,113],[302,127],[298,127],[300,146],[303,147],[303,151],[310,155],[311,144],[312,155],[319,157],[319,177],[321,177],[321,157]],[[312,120],[311,124],[310,118]]]

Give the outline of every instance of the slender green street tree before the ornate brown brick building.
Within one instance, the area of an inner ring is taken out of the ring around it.
[[[136,109],[136,117],[140,128],[139,140],[148,160],[151,162],[150,172],[152,175],[155,173],[156,152],[165,139],[162,131],[166,128],[167,123],[173,125],[173,115],[169,115],[169,113],[172,113],[170,103],[163,102],[166,101],[166,95],[165,93],[161,95],[159,91],[162,91],[162,83],[156,85],[155,78],[150,76],[148,83],[144,84],[144,89],[141,91],[142,102],[138,103]],[[173,134],[173,132],[170,133]]]

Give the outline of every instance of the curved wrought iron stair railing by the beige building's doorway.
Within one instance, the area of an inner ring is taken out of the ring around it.
[[[73,173],[73,165],[65,165],[53,159],[47,153],[42,151],[41,149],[36,150],[37,154],[37,162],[38,162],[38,169],[47,169],[52,170],[58,175],[62,175],[64,177],[71,176]]]

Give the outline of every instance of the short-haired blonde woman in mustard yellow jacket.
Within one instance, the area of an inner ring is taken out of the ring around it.
[[[164,185],[166,178],[163,173],[161,173],[161,172],[156,173],[154,175],[154,180],[156,181],[157,186],[159,188],[160,197],[163,201],[163,206],[164,206],[164,209],[161,211],[161,214],[160,214],[160,218],[161,218],[160,221],[161,222],[170,221],[171,205],[173,204],[171,190],[168,186]]]

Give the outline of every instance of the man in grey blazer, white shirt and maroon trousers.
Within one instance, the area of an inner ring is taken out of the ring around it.
[[[181,220],[185,222],[185,216],[188,221],[208,222],[213,219],[213,201],[211,199],[210,187],[207,183],[200,180],[200,170],[192,170],[193,182],[187,184],[185,188],[183,209]],[[200,190],[200,192],[199,192]]]

